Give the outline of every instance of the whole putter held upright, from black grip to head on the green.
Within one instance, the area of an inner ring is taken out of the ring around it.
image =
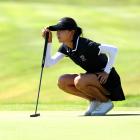
[[[37,108],[38,108],[38,101],[39,101],[40,88],[41,88],[41,81],[42,81],[42,75],[43,75],[43,68],[44,68],[44,64],[45,64],[45,57],[46,57],[46,51],[47,51],[48,37],[49,37],[49,33],[46,33],[45,44],[44,44],[44,52],[43,52],[43,57],[42,57],[42,65],[41,65],[41,74],[40,74],[39,88],[38,88],[38,94],[37,94],[37,100],[36,100],[36,108],[35,108],[35,113],[30,115],[30,117],[38,117],[38,116],[40,116],[40,113],[37,113]]]

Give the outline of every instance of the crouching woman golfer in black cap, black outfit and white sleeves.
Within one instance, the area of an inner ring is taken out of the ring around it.
[[[50,55],[51,31],[57,31],[58,40],[62,43],[53,57]],[[63,91],[89,100],[85,116],[105,115],[113,108],[112,101],[125,100],[120,77],[113,67],[116,47],[80,37],[82,29],[70,17],[45,28],[42,36],[45,37],[47,32],[45,66],[52,66],[67,56],[86,71],[83,74],[64,74],[58,80],[58,87]]]

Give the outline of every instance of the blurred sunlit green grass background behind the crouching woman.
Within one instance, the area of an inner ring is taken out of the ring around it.
[[[0,110],[34,109],[44,46],[41,30],[65,16],[77,21],[84,37],[118,47],[115,67],[126,100],[115,104],[140,107],[140,0],[0,0]],[[60,46],[55,34],[52,54]],[[44,69],[39,108],[86,108],[87,101],[57,87],[61,74],[82,72],[68,58]]]

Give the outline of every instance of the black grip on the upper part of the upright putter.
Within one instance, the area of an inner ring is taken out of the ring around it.
[[[44,52],[43,52],[43,58],[42,58],[42,68],[44,68],[44,64],[45,64],[46,51],[47,51],[47,45],[48,45],[48,38],[49,38],[49,33],[47,32],[46,37],[45,37]]]

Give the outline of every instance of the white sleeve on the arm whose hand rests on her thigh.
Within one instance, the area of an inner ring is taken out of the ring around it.
[[[115,46],[108,45],[108,44],[101,44],[99,46],[99,49],[100,49],[99,53],[104,53],[108,56],[108,62],[106,64],[106,67],[105,67],[104,71],[106,73],[110,73],[110,70],[111,70],[111,68],[114,64],[115,57],[116,57],[116,54],[118,52],[118,49]]]

